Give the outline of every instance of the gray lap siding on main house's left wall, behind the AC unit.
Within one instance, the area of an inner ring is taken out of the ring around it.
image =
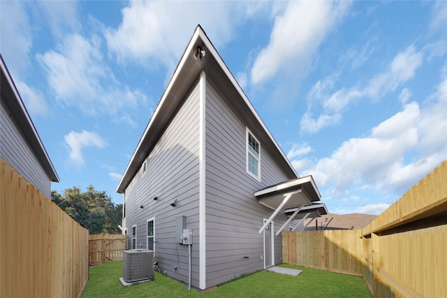
[[[137,225],[137,247],[146,248],[146,220],[155,217],[155,260],[179,281],[188,282],[188,247],[175,242],[175,220],[186,215],[193,229],[191,285],[199,285],[199,88],[193,87],[147,157],[147,172],[138,172],[126,187],[126,229]],[[154,201],[154,197],[158,197]],[[177,207],[170,204],[177,199]],[[140,208],[144,206],[144,208]],[[131,240],[130,240],[131,243]],[[177,266],[177,270],[174,267]]]

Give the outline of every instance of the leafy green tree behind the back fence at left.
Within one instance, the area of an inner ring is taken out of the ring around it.
[[[67,188],[64,194],[51,192],[51,200],[63,211],[89,230],[89,234],[121,234],[122,204],[115,205],[104,191],[92,185],[82,192],[80,187]]]

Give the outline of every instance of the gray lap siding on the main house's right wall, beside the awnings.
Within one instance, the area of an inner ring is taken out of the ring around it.
[[[263,269],[263,234],[272,210],[254,192],[288,180],[261,143],[261,181],[246,171],[246,125],[207,81],[206,93],[206,287]],[[249,127],[250,129],[250,127]],[[286,221],[274,219],[276,232]],[[274,237],[275,264],[281,263],[281,236]],[[248,257],[248,258],[247,258]]]

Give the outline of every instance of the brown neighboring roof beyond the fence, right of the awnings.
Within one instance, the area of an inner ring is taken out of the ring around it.
[[[305,230],[315,230],[315,226],[318,229],[363,229],[369,222],[372,222],[376,218],[376,215],[351,213],[351,214],[334,214],[328,213],[322,215],[321,218],[312,218],[305,222]],[[316,221],[317,224],[316,224]]]

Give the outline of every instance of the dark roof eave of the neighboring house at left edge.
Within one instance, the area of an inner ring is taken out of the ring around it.
[[[47,150],[43,146],[41,137],[37,133],[36,127],[34,127],[33,121],[29,117],[27,108],[25,108],[20,97],[17,87],[15,87],[13,78],[11,78],[8,68],[6,67],[3,57],[0,55],[1,66],[1,99],[8,106],[12,117],[17,123],[18,127],[22,130],[23,136],[27,139],[31,150],[33,150],[36,158],[41,163],[41,166],[48,178],[52,182],[59,182],[59,176],[57,176],[56,170],[48,157]]]

